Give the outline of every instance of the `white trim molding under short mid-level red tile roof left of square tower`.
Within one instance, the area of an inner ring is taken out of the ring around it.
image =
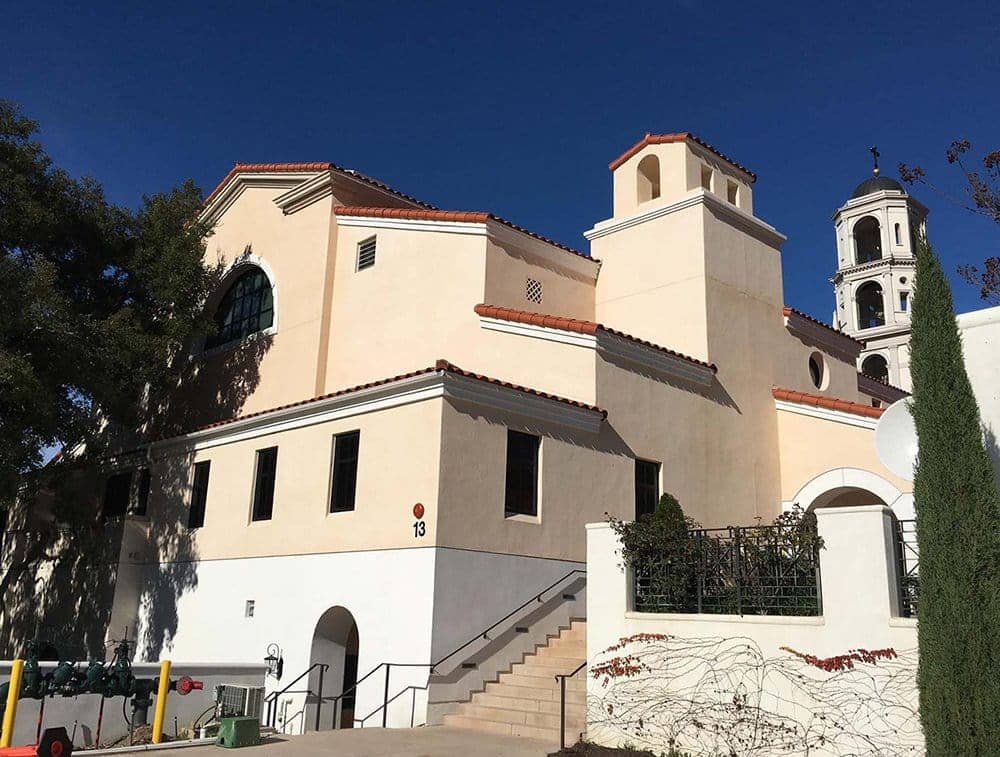
[[[595,334],[582,334],[577,331],[537,326],[532,323],[517,323],[487,316],[479,317],[479,325],[489,331],[595,350],[605,357],[617,358],[664,376],[691,381],[702,386],[711,386],[715,380],[715,372],[707,365],[693,363],[679,355],[672,355],[656,347],[626,339],[602,328],[598,328]]]

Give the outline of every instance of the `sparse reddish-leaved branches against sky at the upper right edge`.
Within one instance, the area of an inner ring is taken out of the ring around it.
[[[969,140],[956,139],[945,152],[948,162],[957,165],[965,177],[965,190],[971,204],[964,200],[950,197],[949,199],[953,199],[973,213],[984,215],[987,218],[992,218],[996,223],[1000,223],[1000,150],[993,150],[983,156],[984,175],[966,166],[963,156],[971,149],[972,143]],[[911,167],[900,163],[899,175],[907,184],[919,182],[940,192],[927,180],[926,173],[920,166]],[[982,268],[975,265],[959,266],[958,272],[962,278],[979,289],[979,296],[982,299],[994,305],[1000,305],[1000,257],[986,258]]]

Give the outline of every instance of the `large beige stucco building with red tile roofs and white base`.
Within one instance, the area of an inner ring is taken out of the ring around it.
[[[476,637],[584,567],[584,524],[662,492],[706,526],[909,515],[873,443],[902,393],[787,306],[755,175],[692,134],[610,169],[610,217],[577,251],[330,163],[237,164],[203,211],[220,332],[111,471],[111,628],[150,659],[277,643],[292,678],[326,660],[336,694]],[[451,701],[426,683],[390,684],[417,722]]]

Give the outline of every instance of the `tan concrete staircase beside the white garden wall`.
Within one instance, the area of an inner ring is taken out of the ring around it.
[[[587,622],[574,620],[544,646],[525,654],[510,672],[486,684],[444,724],[489,733],[559,741],[559,682],[587,659]],[[566,743],[573,744],[587,729],[587,669],[566,679]]]

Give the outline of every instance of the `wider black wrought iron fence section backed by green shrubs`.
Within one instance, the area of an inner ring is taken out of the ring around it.
[[[632,565],[639,612],[820,615],[819,540],[794,526],[694,529]]]

